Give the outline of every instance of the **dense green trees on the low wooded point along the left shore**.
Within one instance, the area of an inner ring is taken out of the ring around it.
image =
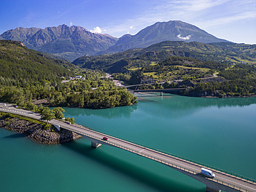
[[[83,108],[113,108],[135,104],[136,97],[125,88],[118,88],[102,74],[84,72],[86,79],[69,81],[55,86],[1,86],[0,101],[35,109],[33,103],[44,101],[48,106]]]

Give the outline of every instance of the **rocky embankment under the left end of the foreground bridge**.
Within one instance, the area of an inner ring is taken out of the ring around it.
[[[60,144],[81,137],[72,131],[65,129],[57,131],[55,127],[46,129],[42,124],[35,124],[18,117],[1,117],[0,127],[17,131],[42,144]]]

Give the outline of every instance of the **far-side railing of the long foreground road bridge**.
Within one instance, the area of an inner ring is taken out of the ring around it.
[[[77,125],[77,124],[76,124],[76,125]],[[80,126],[81,128],[86,128],[86,127],[81,126],[81,125],[79,125],[79,126]],[[88,129],[92,130],[91,128],[88,128]],[[94,131],[94,130],[92,130],[92,131]],[[106,133],[103,133],[103,132],[101,132],[101,131],[95,131],[95,132],[102,133],[102,134],[105,134],[105,135],[109,135],[109,136],[111,136],[111,137],[116,137],[116,136],[114,136],[114,135],[106,134]],[[122,139],[121,137],[116,137],[116,138],[118,138],[119,140],[124,140],[124,139]],[[239,177],[239,178],[241,178],[241,179],[243,179],[243,180],[247,180],[247,181],[250,181],[250,182],[256,182],[256,180],[253,180],[252,178],[244,177],[243,175],[239,175],[239,174],[236,174],[236,173],[232,173],[232,172],[230,172],[230,171],[225,171],[225,170],[223,170],[223,169],[219,169],[219,168],[217,168],[217,167],[210,166],[210,165],[208,165],[208,164],[203,164],[203,163],[201,163],[201,162],[196,162],[196,161],[194,161],[194,160],[190,160],[190,159],[188,159],[188,158],[181,157],[181,156],[179,156],[179,155],[174,155],[174,154],[172,154],[172,153],[168,153],[168,152],[166,152],[166,151],[161,151],[161,150],[159,150],[159,149],[152,148],[152,147],[149,147],[149,146],[145,146],[145,145],[143,145],[143,144],[138,144],[138,143],[136,143],[136,142],[131,142],[131,141],[129,141],[129,140],[124,140],[124,141],[130,142],[130,143],[132,143],[132,144],[136,144],[136,145],[139,145],[139,146],[143,146],[143,147],[145,147],[145,148],[149,148],[149,149],[152,149],[152,150],[154,150],[154,151],[158,151],[158,152],[160,152],[160,153],[164,153],[164,154],[166,154],[166,155],[171,155],[171,156],[173,156],[173,157],[177,157],[177,158],[179,158],[179,159],[181,159],[181,160],[185,160],[185,161],[188,161],[188,162],[192,162],[192,163],[194,163],[194,164],[199,164],[199,165],[201,165],[201,166],[205,166],[205,167],[208,167],[209,169],[214,169],[214,170],[220,171],[220,172],[222,172],[222,173],[226,173],[226,174],[228,174],[228,175],[232,175],[232,176],[235,176],[235,177]]]

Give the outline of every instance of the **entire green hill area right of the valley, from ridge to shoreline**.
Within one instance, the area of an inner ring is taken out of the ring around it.
[[[73,64],[113,73],[126,84],[154,84],[139,89],[186,87],[181,94],[241,97],[256,95],[255,53],[256,45],[163,41],[112,55],[80,57]]]

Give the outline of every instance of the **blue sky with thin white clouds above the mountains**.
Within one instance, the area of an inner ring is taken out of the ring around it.
[[[255,0],[0,0],[0,34],[66,24],[121,37],[170,20],[235,43],[256,44]]]

